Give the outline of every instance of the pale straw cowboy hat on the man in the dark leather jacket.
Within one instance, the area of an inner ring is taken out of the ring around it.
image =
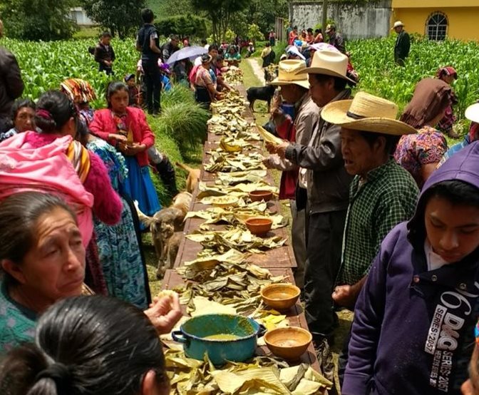
[[[346,77],[348,70],[348,57],[341,52],[335,51],[316,51],[311,61],[311,67],[298,71],[298,74],[325,74],[326,76],[339,77],[347,81],[356,82]]]

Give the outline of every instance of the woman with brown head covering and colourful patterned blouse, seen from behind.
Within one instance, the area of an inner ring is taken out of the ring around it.
[[[451,88],[444,81],[425,78],[418,82],[413,98],[401,120],[418,134],[403,135],[394,153],[394,159],[408,170],[421,189],[448,150],[444,135],[436,129],[450,106]]]

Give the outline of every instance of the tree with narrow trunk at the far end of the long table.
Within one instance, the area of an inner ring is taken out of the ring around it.
[[[245,9],[252,0],[192,0],[192,6],[205,13],[210,18],[213,29],[213,39],[220,42],[225,38],[230,26],[231,17]]]

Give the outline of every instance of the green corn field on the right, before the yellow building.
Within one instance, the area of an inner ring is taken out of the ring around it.
[[[406,66],[401,67],[393,61],[394,42],[391,36],[346,43],[361,78],[358,88],[394,101],[402,111],[421,78],[436,76],[440,67],[453,66],[458,72],[453,90],[459,101],[454,112],[461,122],[465,108],[479,100],[479,43],[436,42],[414,36]]]

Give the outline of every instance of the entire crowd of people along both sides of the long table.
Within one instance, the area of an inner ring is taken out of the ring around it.
[[[160,47],[153,12],[142,17],[136,46],[155,114],[159,64],[179,40]],[[335,26],[325,33],[329,43],[321,31],[289,32],[270,82],[270,123],[284,141],[267,143],[263,162],[282,171],[315,347],[327,352],[337,309],[350,309],[342,394],[478,394],[479,103],[465,111],[468,135],[448,147],[453,67],[418,81],[397,120],[393,101],[352,95],[359,76],[344,40]],[[109,39],[93,53],[112,74]],[[274,62],[274,44],[272,31],[263,59]],[[235,44],[211,44],[173,70],[208,106],[231,89],[223,61],[240,61]],[[132,102],[135,76],[109,83],[107,108],[93,111],[87,81],[70,78],[34,103],[21,98],[18,64],[1,47],[0,66],[0,392],[168,394],[158,334],[182,313],[175,294],[151,300],[133,200],[153,215],[161,205],[149,166],[173,194],[175,174]]]

